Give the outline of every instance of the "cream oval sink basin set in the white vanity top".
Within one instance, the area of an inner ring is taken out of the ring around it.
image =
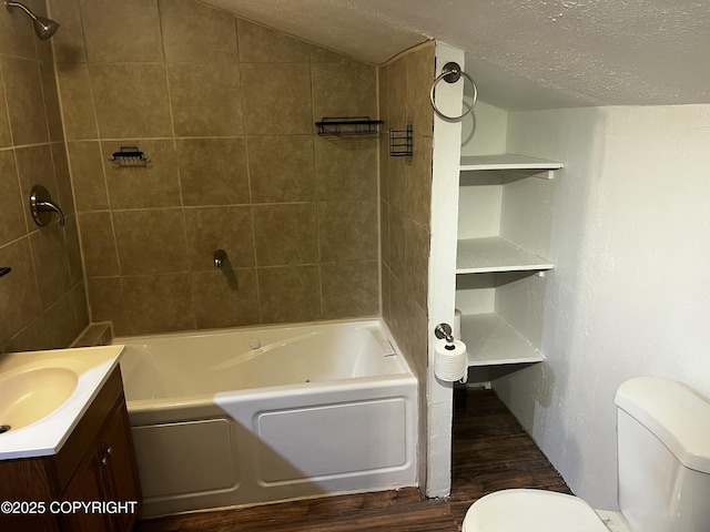
[[[49,416],[73,393],[79,378],[68,368],[36,367],[0,374],[0,431]]]

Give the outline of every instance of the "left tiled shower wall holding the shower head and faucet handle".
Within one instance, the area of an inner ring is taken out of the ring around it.
[[[43,1],[28,7],[47,14]],[[68,346],[87,326],[77,218],[49,41],[16,9],[0,10],[0,350]],[[40,228],[29,212],[43,185],[67,215]]]

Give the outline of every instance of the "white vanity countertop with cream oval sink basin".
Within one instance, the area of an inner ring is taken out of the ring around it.
[[[59,452],[122,352],[102,346],[0,355],[0,460]]]

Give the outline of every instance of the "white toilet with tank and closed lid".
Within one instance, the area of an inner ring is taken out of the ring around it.
[[[617,405],[620,512],[551,491],[476,501],[463,532],[709,532],[710,401],[658,377],[623,382]]]

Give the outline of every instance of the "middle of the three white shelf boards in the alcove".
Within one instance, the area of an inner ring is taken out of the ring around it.
[[[542,272],[555,266],[505,238],[465,238],[456,247],[457,274],[495,272]]]

